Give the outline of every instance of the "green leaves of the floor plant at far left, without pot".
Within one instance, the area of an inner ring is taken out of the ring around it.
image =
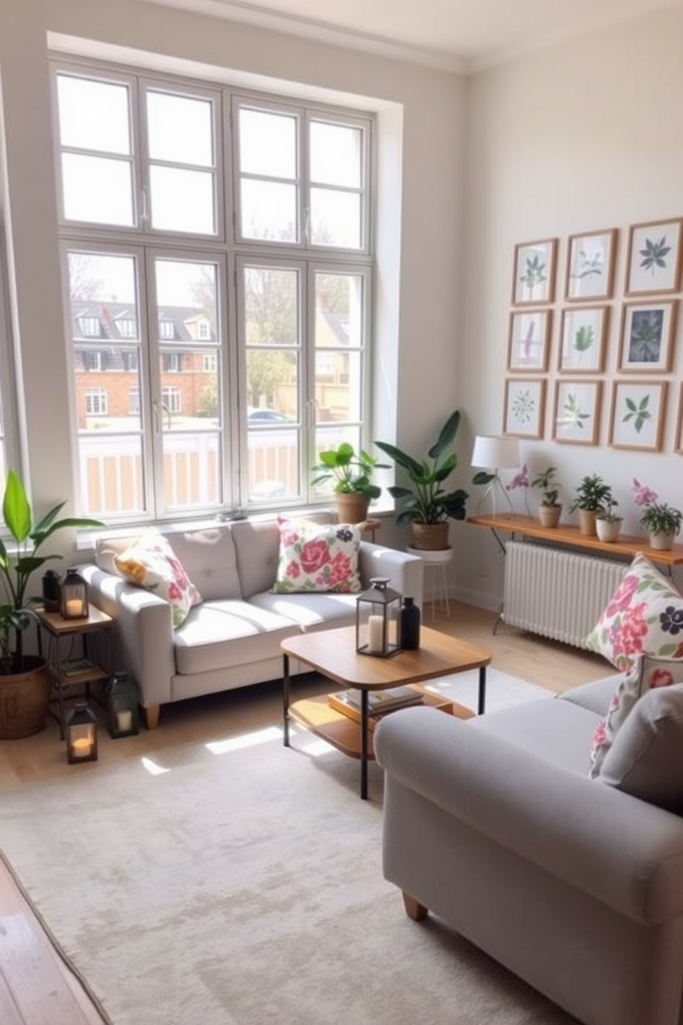
[[[5,527],[16,543],[16,552],[11,554],[0,538],[0,581],[2,581],[3,604],[0,605],[0,674],[23,672],[23,634],[32,622],[38,620],[33,605],[41,598],[27,597],[30,577],[46,562],[60,559],[60,556],[39,556],[38,551],[52,534],[66,527],[104,527],[99,520],[83,520],[57,517],[66,502],[54,505],[36,526],[24,485],[13,469],[7,474],[2,502]],[[14,637],[14,648],[10,639]]]

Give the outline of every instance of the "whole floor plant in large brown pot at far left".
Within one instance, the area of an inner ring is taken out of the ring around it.
[[[10,469],[5,482],[2,515],[16,544],[8,552],[0,538],[0,739],[29,737],[45,725],[51,680],[47,663],[24,653],[24,631],[38,621],[34,606],[41,598],[27,596],[29,580],[48,560],[59,556],[38,555],[43,543],[65,527],[103,527],[99,520],[57,517],[66,503],[51,508],[33,526],[31,505],[24,485]]]

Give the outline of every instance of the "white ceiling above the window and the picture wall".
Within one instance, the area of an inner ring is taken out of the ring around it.
[[[681,0],[146,0],[475,72]]]

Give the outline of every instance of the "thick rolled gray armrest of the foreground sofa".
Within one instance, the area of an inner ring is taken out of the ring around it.
[[[387,715],[375,732],[387,794],[393,777],[636,921],[683,912],[683,820],[475,724],[425,707]]]

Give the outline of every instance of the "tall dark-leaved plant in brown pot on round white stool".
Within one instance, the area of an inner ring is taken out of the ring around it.
[[[444,482],[458,465],[458,456],[447,451],[458,433],[460,410],[451,413],[438,433],[427,458],[415,458],[388,442],[376,442],[408,475],[412,487],[392,485],[389,494],[403,499],[396,524],[411,527],[411,546],[426,551],[449,547],[449,520],[464,520],[469,495],[462,488],[447,491]]]

